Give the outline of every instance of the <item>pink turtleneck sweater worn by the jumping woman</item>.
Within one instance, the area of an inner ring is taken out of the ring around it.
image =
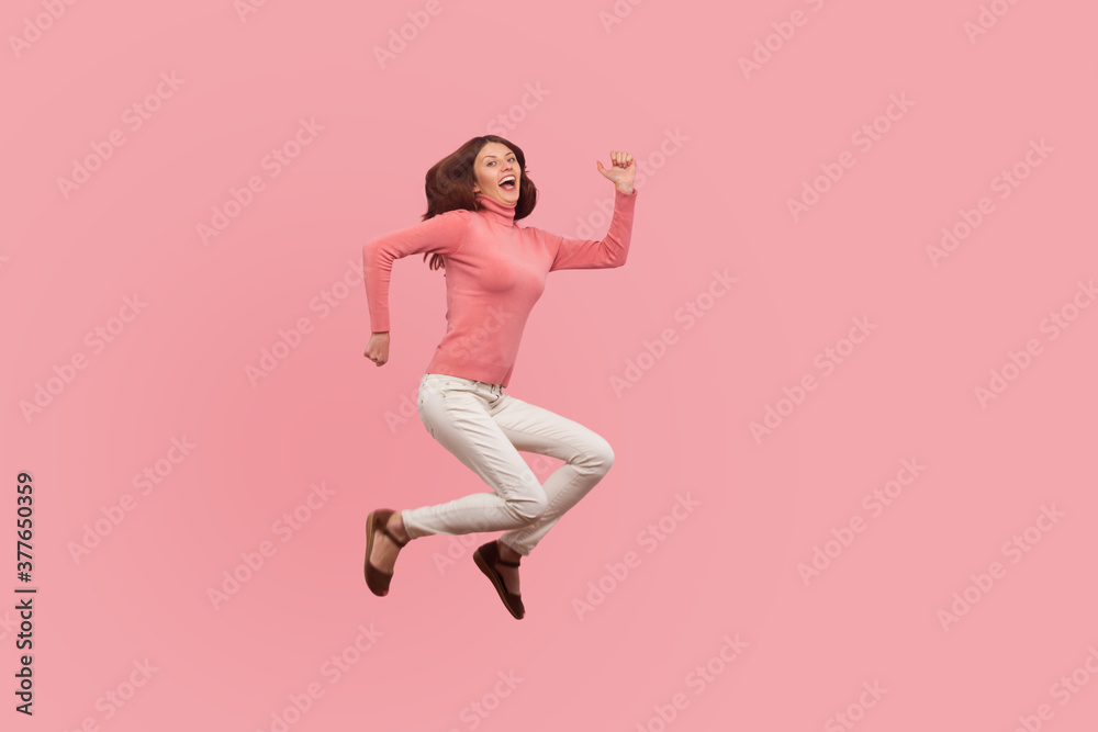
[[[541,297],[546,275],[560,269],[625,264],[637,191],[625,194],[615,189],[614,216],[601,241],[567,239],[533,226],[518,226],[514,206],[483,193],[477,200],[483,206],[480,211],[447,211],[362,247],[370,325],[373,333],[389,330],[393,260],[424,252],[441,255],[446,262],[446,335],[426,373],[506,386],[526,319]]]

